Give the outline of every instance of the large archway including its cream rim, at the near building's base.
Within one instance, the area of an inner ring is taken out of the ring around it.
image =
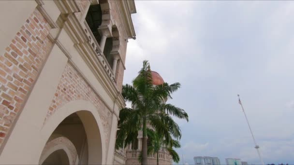
[[[48,137],[46,138],[48,140],[44,143],[39,164],[42,164],[41,159],[47,159],[47,156],[44,158],[47,144],[60,137],[69,141],[65,142],[59,139],[60,144],[72,143],[73,147],[67,145],[66,148],[69,148],[69,151],[76,151],[76,158],[73,153],[67,154],[71,155],[73,160],[76,159],[76,161],[69,159],[70,164],[104,164],[105,147],[101,132],[103,132],[103,126],[98,111],[90,102],[76,100],[64,105],[50,116],[44,124],[42,134],[44,134],[44,137]]]

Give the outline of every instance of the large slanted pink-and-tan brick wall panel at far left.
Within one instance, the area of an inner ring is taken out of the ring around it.
[[[0,145],[52,47],[46,38],[49,29],[35,10],[0,56]]]

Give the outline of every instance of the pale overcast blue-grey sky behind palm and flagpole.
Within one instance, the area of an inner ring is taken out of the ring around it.
[[[294,164],[294,1],[135,3],[124,83],[145,59],[165,82],[181,83],[168,102],[189,114],[189,123],[176,120],[184,160],[260,164],[240,94],[265,164]]]

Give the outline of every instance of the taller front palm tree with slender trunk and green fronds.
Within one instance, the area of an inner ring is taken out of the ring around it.
[[[150,65],[143,61],[143,68],[132,85],[125,84],[122,88],[122,96],[126,102],[132,102],[133,108],[123,108],[119,112],[116,148],[130,144],[142,130],[142,165],[147,165],[147,122],[165,140],[170,141],[170,135],[180,139],[180,128],[170,115],[189,121],[188,114],[163,101],[172,98],[171,94],[179,87],[180,83],[153,85]]]

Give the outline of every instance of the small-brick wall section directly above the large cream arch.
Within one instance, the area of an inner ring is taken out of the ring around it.
[[[92,91],[76,70],[70,64],[67,64],[62,73],[52,103],[47,111],[46,119],[48,119],[60,107],[72,100],[87,100],[95,105],[104,127],[105,144],[108,144],[112,122],[111,112],[107,110],[107,107],[103,104],[101,99]]]

